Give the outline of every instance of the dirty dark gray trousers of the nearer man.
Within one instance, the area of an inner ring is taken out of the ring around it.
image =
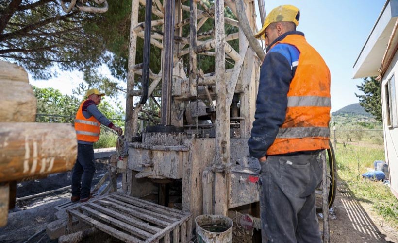
[[[268,156],[261,164],[262,242],[321,243],[315,189],[322,180],[319,151]]]

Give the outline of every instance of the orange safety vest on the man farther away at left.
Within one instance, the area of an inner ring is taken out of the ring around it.
[[[80,104],[79,110],[76,113],[76,137],[81,141],[96,142],[99,139],[99,133],[101,131],[100,123],[94,116],[88,119],[83,116],[83,104],[85,101]]]

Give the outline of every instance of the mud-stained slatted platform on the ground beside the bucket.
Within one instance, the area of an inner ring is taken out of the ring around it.
[[[121,192],[90,199],[67,213],[68,229],[77,218],[124,242],[184,243],[192,238],[191,214]]]

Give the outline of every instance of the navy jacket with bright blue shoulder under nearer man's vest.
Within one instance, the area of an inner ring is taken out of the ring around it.
[[[291,31],[279,36],[272,45],[287,35],[303,35]],[[298,63],[300,52],[292,45],[278,43],[268,50],[260,69],[255,121],[248,140],[250,155],[261,158],[274,142],[286,116],[287,93]]]

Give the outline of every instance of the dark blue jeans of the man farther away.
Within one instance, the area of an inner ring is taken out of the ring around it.
[[[94,173],[93,145],[78,143],[77,159],[72,173],[72,196],[87,198],[90,195]]]

